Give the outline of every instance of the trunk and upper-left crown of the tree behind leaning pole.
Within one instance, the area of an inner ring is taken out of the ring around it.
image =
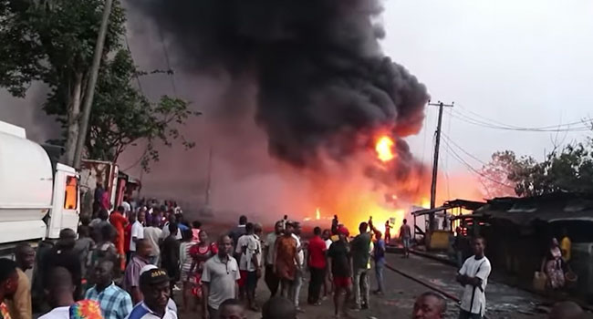
[[[0,87],[25,97],[33,81],[67,110],[66,162],[72,164],[80,106],[99,32],[102,0],[0,0]],[[125,14],[114,1],[105,56],[120,47]]]

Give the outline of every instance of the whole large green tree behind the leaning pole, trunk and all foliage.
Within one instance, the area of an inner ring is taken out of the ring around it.
[[[50,88],[43,109],[62,124],[66,162],[72,164],[78,139],[80,106],[99,31],[102,0],[0,0],[0,87],[24,97],[33,81]],[[173,139],[186,141],[176,126],[194,113],[179,98],[162,97],[151,103],[131,86],[145,75],[122,50],[125,15],[113,2],[96,94],[91,107],[87,143],[88,158],[118,160],[139,139],[146,139],[141,157],[145,170],[159,160],[155,142],[170,146]]]

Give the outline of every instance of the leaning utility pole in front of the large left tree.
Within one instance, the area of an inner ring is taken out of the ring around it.
[[[97,36],[97,43],[95,44],[95,53],[93,56],[93,64],[90,67],[90,77],[88,78],[88,85],[85,92],[84,105],[82,106],[82,118],[80,118],[80,131],[78,132],[78,140],[76,150],[74,152],[74,168],[80,169],[80,162],[82,160],[82,149],[85,147],[88,131],[88,118],[90,118],[90,107],[93,105],[93,97],[95,95],[95,85],[97,84],[97,77],[99,76],[99,67],[101,64],[101,57],[103,56],[103,46],[105,45],[105,36],[107,36],[107,26],[109,25],[109,15],[111,15],[111,5],[113,0],[105,0],[103,6],[103,18],[99,28],[99,36]]]

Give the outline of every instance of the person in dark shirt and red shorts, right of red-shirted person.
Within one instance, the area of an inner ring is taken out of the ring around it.
[[[332,242],[328,250],[329,280],[334,283],[334,314],[339,317],[339,309],[343,309],[344,315],[348,316],[346,304],[352,293],[352,262],[350,248],[346,239],[349,231],[346,227],[338,228],[338,241]],[[344,302],[340,301],[342,293],[346,293]]]

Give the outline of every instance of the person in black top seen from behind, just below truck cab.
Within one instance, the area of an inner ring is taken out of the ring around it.
[[[109,227],[111,225],[108,225]],[[69,228],[63,229],[59,232],[59,239],[56,246],[47,253],[45,260],[41,263],[43,280],[49,279],[49,273],[56,267],[64,267],[72,275],[72,282],[76,288],[74,298],[79,299],[82,296],[82,270],[80,267],[80,259],[78,254],[74,252],[76,244],[76,233]],[[47,284],[44,284],[47,286]]]

